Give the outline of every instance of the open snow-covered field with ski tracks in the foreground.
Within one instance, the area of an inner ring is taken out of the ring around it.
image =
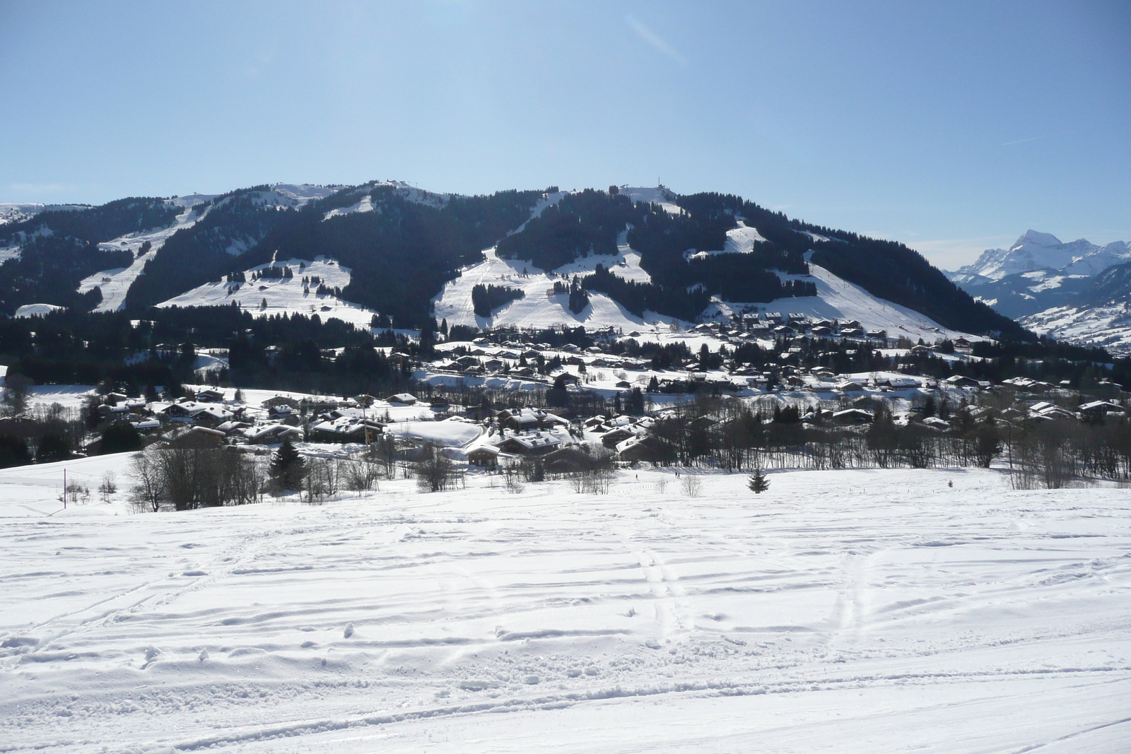
[[[68,462],[97,482],[124,457]],[[490,476],[57,512],[0,471],[5,752],[1125,752],[1131,496]],[[953,483],[953,487],[948,486]],[[92,485],[93,486],[93,485]]]

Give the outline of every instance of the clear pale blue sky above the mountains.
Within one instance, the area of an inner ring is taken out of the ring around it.
[[[1131,2],[0,0],[0,201],[736,193],[946,269],[1131,241]]]

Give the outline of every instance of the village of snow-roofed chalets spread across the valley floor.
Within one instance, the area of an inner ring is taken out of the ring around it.
[[[539,468],[552,474],[598,462],[687,462],[672,437],[657,433],[656,423],[680,416],[717,435],[733,423],[727,406],[741,406],[768,424],[857,435],[878,416],[938,435],[959,426],[966,432],[972,422],[987,418],[1004,427],[1128,416],[1128,395],[1110,381],[1081,390],[1068,380],[1015,376],[994,383],[916,374],[917,358],[960,363],[978,357],[966,339],[913,344],[864,331],[857,322],[745,314],[729,327],[706,323],[666,332],[662,344],[679,346],[653,348],[651,358],[647,350],[629,355],[644,350],[637,338],[648,336],[641,332],[606,328],[587,335],[592,345],[585,347],[551,346],[534,341],[532,333],[500,329],[441,341],[431,359],[385,348],[394,366],[411,373],[413,392],[334,397],[235,389],[207,384],[218,380],[214,370],[205,370],[202,384],[176,399],[109,392],[92,396],[88,404],[103,424],[129,424],[143,448],[269,454],[290,440],[304,454],[348,457],[380,447],[387,458],[411,462],[429,447],[468,470],[537,458]],[[751,346],[761,363],[740,361]],[[899,369],[835,372],[813,365],[822,355],[826,362],[839,356],[852,364],[858,352]],[[673,353],[687,357],[668,358]],[[223,354],[210,352],[207,359],[223,364]],[[100,442],[86,452],[100,452]]]

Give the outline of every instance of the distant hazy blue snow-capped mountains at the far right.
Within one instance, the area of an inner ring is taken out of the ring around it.
[[[1131,354],[1131,243],[1062,243],[1026,231],[1009,249],[987,249],[947,276],[1041,335]]]

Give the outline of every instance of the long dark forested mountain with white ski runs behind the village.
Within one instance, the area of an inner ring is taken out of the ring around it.
[[[259,185],[14,214],[0,250],[9,314],[223,304],[399,328],[636,327],[761,309],[909,337],[1027,337],[901,244],[663,187]]]

